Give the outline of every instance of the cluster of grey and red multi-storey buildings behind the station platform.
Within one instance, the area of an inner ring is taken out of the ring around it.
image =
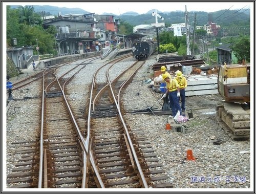
[[[58,46],[58,55],[61,56],[88,52],[88,46],[91,51],[95,51],[99,42],[104,46],[104,41],[117,32],[113,17],[95,15],[95,13],[66,15],[59,13],[58,17],[45,20],[44,25],[53,25],[57,28],[56,48]]]

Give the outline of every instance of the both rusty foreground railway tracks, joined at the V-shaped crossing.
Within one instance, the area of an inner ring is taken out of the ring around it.
[[[125,110],[119,100],[120,89],[129,84],[128,80],[132,80],[141,65],[137,62],[122,76],[109,79],[110,84],[92,84],[97,85],[92,87],[97,89],[92,96],[100,94],[95,98],[95,110],[89,109],[89,122],[86,109],[91,103],[84,110],[71,110],[65,99],[65,84],[82,67],[78,65],[59,77],[55,72],[57,67],[44,72],[41,131],[37,123],[36,139],[26,141],[28,148],[19,150],[25,156],[16,167],[23,168],[13,170],[17,173],[8,176],[8,184],[13,188],[157,187],[154,181],[166,178],[159,169],[161,164],[150,142],[136,139],[129,126],[126,127],[121,114]],[[91,129],[88,131],[86,127]],[[25,144],[20,141],[16,146],[22,143]],[[158,187],[172,187],[172,184]]]

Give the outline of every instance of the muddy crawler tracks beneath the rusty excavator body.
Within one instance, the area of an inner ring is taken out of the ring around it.
[[[241,104],[223,101],[216,107],[216,115],[219,124],[233,140],[250,138],[250,112],[244,110]]]

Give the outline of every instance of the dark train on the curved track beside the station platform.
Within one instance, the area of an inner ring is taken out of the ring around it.
[[[154,41],[144,41],[144,42],[135,42],[132,47],[133,56],[137,60],[146,59],[152,53],[157,50],[157,42]]]

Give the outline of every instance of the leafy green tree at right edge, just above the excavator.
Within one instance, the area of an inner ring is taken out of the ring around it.
[[[238,60],[250,61],[250,37],[248,35],[240,34],[239,37],[232,37],[229,43],[231,44],[230,49]]]

